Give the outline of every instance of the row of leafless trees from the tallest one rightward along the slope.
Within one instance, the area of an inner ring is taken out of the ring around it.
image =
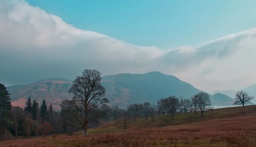
[[[82,75],[74,80],[70,93],[73,95],[73,99],[61,103],[62,112],[65,112],[66,124],[82,128],[84,136],[87,134],[89,124],[98,123],[100,120],[107,121],[110,117],[113,117],[114,120],[118,119],[119,126],[127,126],[131,117],[134,121],[138,116],[143,116],[147,120],[148,116],[154,118],[158,112],[162,115],[168,114],[174,120],[177,112],[186,113],[190,110],[196,114],[200,110],[203,116],[204,111],[211,108],[210,96],[204,92],[200,92],[190,99],[176,96],[162,98],[157,102],[157,106],[148,102],[132,104],[126,109],[109,106],[108,99],[104,98],[105,89],[101,85],[101,74],[97,70],[84,70]],[[241,97],[246,97],[246,94]],[[238,98],[236,101],[241,102],[242,98]],[[240,102],[236,102],[236,104],[240,104]]]

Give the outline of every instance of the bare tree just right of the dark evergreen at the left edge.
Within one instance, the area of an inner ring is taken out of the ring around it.
[[[25,118],[25,112],[23,108],[14,106],[12,107],[13,113],[13,129],[15,131],[15,136],[18,136],[18,129],[20,127],[20,122]]]

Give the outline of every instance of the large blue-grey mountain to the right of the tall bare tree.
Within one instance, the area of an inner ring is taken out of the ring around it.
[[[201,92],[175,76],[160,72],[104,76],[102,85],[106,89],[105,97],[122,106],[135,102],[156,102],[170,95],[190,98]]]

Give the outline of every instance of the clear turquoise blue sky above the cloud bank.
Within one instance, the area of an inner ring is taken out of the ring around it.
[[[28,0],[82,30],[141,46],[201,45],[256,26],[256,1]]]

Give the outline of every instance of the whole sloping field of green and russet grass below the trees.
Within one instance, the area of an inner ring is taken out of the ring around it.
[[[256,106],[222,108],[200,114],[178,114],[137,120],[126,133],[115,122],[89,130],[83,137],[49,135],[0,142],[0,146],[256,146]]]

